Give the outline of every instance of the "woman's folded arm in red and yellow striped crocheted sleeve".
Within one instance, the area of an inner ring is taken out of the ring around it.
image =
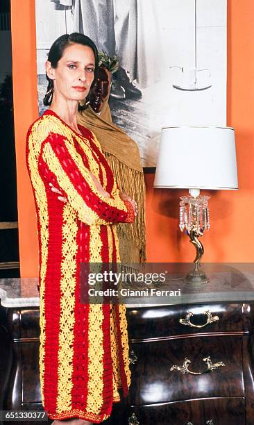
[[[74,147],[53,135],[44,142],[42,161],[49,169],[53,180],[51,190],[60,196],[60,201],[69,202],[78,218],[87,224],[133,222],[137,206],[128,195],[117,188],[109,194],[96,176],[76,155]]]

